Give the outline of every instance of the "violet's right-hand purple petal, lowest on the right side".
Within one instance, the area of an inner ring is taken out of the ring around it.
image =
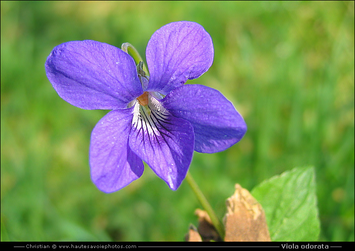
[[[171,114],[192,124],[196,152],[223,151],[240,141],[247,131],[244,119],[233,104],[213,88],[185,85],[161,102]]]

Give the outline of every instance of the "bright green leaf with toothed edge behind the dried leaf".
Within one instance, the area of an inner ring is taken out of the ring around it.
[[[262,182],[251,194],[262,205],[272,241],[317,241],[315,171],[294,168]]]

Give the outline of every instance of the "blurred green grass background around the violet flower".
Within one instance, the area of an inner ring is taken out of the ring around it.
[[[182,241],[200,205],[148,167],[104,194],[90,180],[90,133],[107,111],[62,100],[46,78],[53,47],[93,39],[144,55],[151,34],[195,21],[210,70],[248,125],[242,141],[195,153],[190,172],[217,215],[252,189],[314,165],[320,241],[354,241],[354,1],[1,1],[1,241]]]

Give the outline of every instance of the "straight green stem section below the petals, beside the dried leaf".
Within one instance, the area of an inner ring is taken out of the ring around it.
[[[186,174],[186,181],[194,191],[195,195],[197,196],[197,199],[200,201],[201,205],[204,207],[208,215],[210,216],[214,228],[217,230],[219,236],[221,237],[222,240],[224,240],[224,226],[222,222],[218,219],[216,214],[214,213],[210,203],[207,201],[205,195],[202,193],[194,179],[192,178],[190,172],[187,172]]]

